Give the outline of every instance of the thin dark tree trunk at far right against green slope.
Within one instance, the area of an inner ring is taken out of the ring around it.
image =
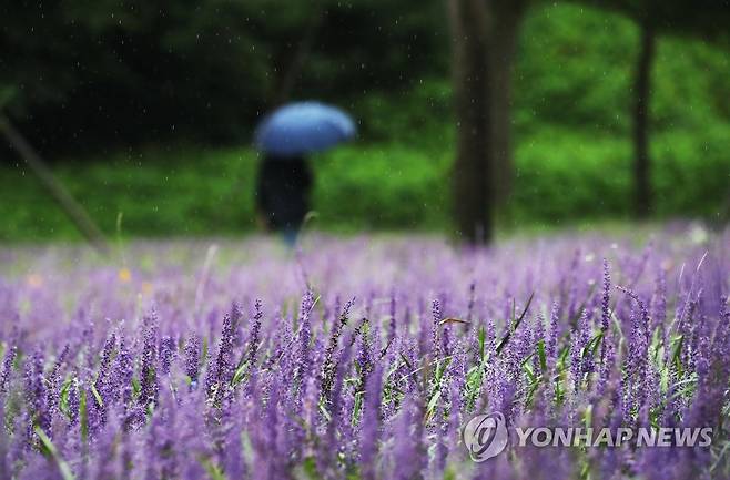
[[[651,94],[651,65],[655,53],[655,33],[648,21],[641,23],[641,51],[635,79],[633,110],[633,175],[635,214],[646,218],[651,212],[651,160],[649,157],[649,101]]]

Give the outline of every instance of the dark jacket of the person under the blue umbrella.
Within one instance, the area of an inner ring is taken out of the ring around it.
[[[256,206],[274,231],[298,228],[310,211],[312,173],[303,157],[264,157],[258,170]]]

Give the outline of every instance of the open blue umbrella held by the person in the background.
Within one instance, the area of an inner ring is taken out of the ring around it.
[[[257,149],[276,156],[320,152],[352,139],[355,122],[342,110],[318,102],[297,102],[276,109],[258,124]]]

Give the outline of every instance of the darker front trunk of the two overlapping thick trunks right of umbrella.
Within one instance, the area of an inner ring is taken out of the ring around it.
[[[481,0],[449,0],[457,151],[454,210],[462,241],[487,243],[493,234],[489,197],[491,155],[486,10]]]

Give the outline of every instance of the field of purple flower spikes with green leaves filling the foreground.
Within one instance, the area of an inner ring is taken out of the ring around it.
[[[640,236],[640,238],[637,238]],[[730,231],[0,254],[0,479],[730,478]],[[712,428],[709,446],[462,430]]]

